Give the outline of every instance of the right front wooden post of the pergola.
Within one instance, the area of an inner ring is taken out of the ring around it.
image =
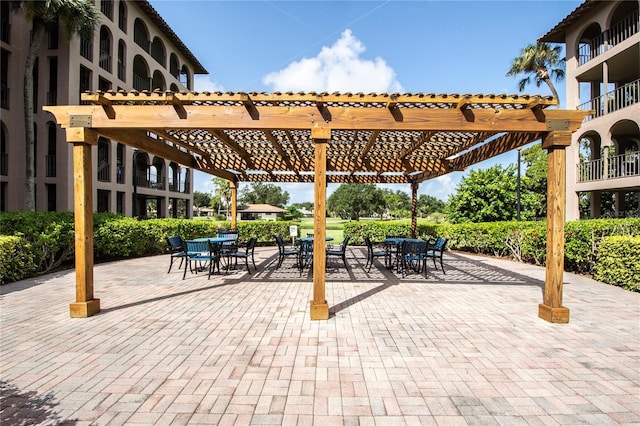
[[[564,276],[564,221],[566,198],[565,148],[571,145],[571,132],[549,132],[542,141],[547,150],[547,262],[544,303],[538,316],[553,323],[569,322],[569,309],[562,306]]]

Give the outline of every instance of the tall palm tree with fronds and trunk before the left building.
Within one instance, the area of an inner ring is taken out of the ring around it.
[[[91,38],[99,21],[98,8],[91,0],[36,0],[10,1],[13,12],[22,11],[31,21],[31,41],[24,68],[24,127],[25,127],[25,210],[34,211],[34,124],[33,124],[33,66],[40,44],[47,30],[53,30],[58,23],[65,28],[69,38],[78,34]]]

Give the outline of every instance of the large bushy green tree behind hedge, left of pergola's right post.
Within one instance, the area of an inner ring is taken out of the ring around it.
[[[447,203],[447,216],[453,223],[496,222],[516,217],[515,167],[496,164],[488,169],[471,170],[462,178]]]

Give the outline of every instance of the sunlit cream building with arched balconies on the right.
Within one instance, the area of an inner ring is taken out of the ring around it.
[[[639,30],[637,0],[587,0],[540,38],[565,44],[567,109],[593,111],[566,150],[567,220],[580,196],[592,218],[640,215]]]

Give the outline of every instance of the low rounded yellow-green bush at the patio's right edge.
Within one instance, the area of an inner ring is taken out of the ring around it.
[[[640,236],[603,238],[593,277],[640,292]]]

